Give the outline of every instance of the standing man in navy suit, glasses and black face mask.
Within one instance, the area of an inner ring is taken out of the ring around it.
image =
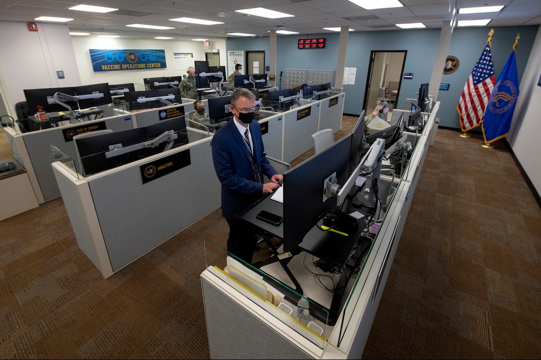
[[[233,117],[212,139],[212,159],[222,184],[222,216],[229,224],[227,251],[252,263],[258,228],[235,218],[263,194],[278,189],[283,177],[269,163],[261,128],[255,117],[255,96],[248,89],[237,89],[231,96]],[[271,182],[263,184],[263,174]]]

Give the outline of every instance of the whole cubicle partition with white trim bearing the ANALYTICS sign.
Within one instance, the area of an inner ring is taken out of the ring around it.
[[[88,177],[77,174],[70,162],[52,164],[77,244],[103,277],[220,206],[212,137],[187,131],[186,145]],[[182,167],[147,181],[147,168],[160,171],[181,162]]]

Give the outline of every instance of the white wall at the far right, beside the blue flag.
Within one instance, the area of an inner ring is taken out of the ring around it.
[[[520,46],[520,41],[518,43]],[[519,85],[517,106],[514,109],[513,121],[507,142],[511,145],[527,176],[530,178],[537,194],[541,195],[541,27],[537,31],[530,58],[526,64],[524,75]]]

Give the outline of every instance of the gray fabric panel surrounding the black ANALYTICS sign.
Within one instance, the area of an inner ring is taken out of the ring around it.
[[[179,149],[189,151],[190,165],[153,181],[142,183],[138,165],[89,180],[113,271],[219,208],[210,138],[167,154]]]

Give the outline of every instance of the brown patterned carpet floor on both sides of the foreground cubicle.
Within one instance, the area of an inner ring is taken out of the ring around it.
[[[363,358],[541,357],[541,211],[481,143],[438,130]],[[0,222],[0,358],[208,358],[204,239],[227,232],[216,210],[104,279],[61,198]]]

